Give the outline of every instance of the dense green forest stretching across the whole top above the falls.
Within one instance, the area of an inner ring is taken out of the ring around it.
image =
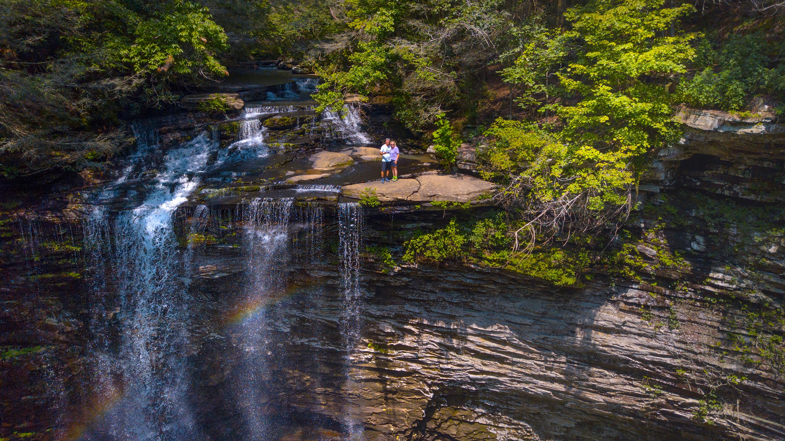
[[[527,272],[542,265],[528,258],[535,247],[560,242],[575,252],[543,251],[537,271],[570,284],[592,258],[582,251],[592,231],[633,209],[647,155],[678,139],[677,106],[785,111],[783,10],[776,0],[2,0],[0,173],[108,166],[132,144],[123,121],[177,108],[227,67],[293,60],[321,76],[320,109],[391,103],[446,167],[463,141],[486,140],[480,173],[502,185],[506,210],[466,235],[425,235],[408,259],[439,261],[469,240],[485,261]]]

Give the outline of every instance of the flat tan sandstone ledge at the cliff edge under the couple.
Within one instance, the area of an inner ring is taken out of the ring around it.
[[[360,199],[363,191],[371,188],[381,202],[470,202],[493,194],[496,185],[487,180],[466,175],[424,174],[413,179],[399,179],[382,183],[381,180],[345,185],[341,196]]]

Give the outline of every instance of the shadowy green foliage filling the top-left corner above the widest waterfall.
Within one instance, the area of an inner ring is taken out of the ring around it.
[[[2,0],[0,169],[100,166],[128,143],[119,111],[177,99],[174,83],[225,75],[227,37],[185,0]]]

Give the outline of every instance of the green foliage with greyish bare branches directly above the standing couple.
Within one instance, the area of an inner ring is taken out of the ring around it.
[[[523,3],[349,0],[330,9],[343,28],[312,56],[325,83],[314,98],[338,109],[347,94],[392,98],[396,118],[422,130],[447,107],[476,113],[477,72],[507,46]]]

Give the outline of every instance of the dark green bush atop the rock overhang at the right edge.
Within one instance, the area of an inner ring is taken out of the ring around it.
[[[703,38],[698,46],[698,72],[679,85],[686,103],[699,108],[739,111],[750,97],[771,93],[785,97],[785,65],[774,64],[783,43],[765,35],[731,35],[724,44]],[[771,67],[774,64],[775,67]]]

